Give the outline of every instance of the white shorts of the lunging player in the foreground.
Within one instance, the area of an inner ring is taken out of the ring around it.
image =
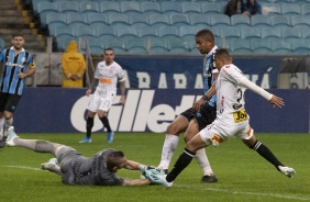
[[[233,125],[224,125],[215,120],[199,132],[200,137],[207,145],[219,146],[220,143],[228,141],[230,137],[250,139],[254,130],[250,126],[248,121]]]

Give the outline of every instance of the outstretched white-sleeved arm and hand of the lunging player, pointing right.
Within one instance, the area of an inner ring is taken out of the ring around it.
[[[281,108],[284,105],[284,101],[281,98],[276,97],[275,94],[272,94],[264,90],[263,88],[258,87],[254,82],[250,81],[246,77],[244,77],[241,82],[242,86],[246,87],[247,89],[252,90],[253,92],[256,92],[257,94],[262,96],[266,100],[269,101],[273,106]]]

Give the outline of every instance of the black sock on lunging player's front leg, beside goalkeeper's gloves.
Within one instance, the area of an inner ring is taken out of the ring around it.
[[[191,159],[193,158],[195,153],[185,148],[182,154],[179,156],[178,160],[176,161],[173,170],[167,175],[166,180],[168,182],[174,181],[178,175],[190,164]]]

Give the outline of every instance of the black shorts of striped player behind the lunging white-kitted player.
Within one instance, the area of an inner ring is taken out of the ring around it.
[[[199,125],[199,131],[203,130],[207,125],[211,124],[217,117],[217,108],[204,103],[200,106],[200,111],[196,112],[192,108],[181,113],[189,122],[196,119]]]

